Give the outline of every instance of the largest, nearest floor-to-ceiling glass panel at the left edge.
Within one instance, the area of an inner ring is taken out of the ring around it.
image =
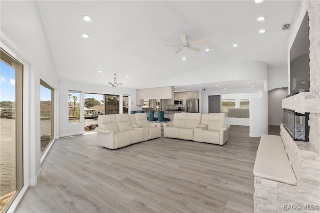
[[[23,187],[22,64],[0,49],[0,212]]]

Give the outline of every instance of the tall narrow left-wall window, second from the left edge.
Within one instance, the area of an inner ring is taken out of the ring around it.
[[[54,90],[40,79],[40,149],[41,156],[53,140],[53,99]]]

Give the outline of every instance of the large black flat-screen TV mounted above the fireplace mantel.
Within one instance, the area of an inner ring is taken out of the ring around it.
[[[306,12],[290,49],[289,96],[309,91],[309,89],[309,26],[308,12]]]

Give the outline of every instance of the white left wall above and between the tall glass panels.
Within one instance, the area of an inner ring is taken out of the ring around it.
[[[1,1],[0,10],[1,43],[29,65],[23,76],[28,79],[23,92],[29,94],[28,106],[24,106],[28,113],[23,115],[28,122],[28,128],[23,129],[28,140],[23,143],[29,148],[29,184],[35,185],[40,171],[40,77],[55,89],[59,78],[36,2]]]

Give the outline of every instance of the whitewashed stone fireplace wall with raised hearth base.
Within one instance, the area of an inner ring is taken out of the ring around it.
[[[302,92],[282,100],[282,108],[309,112],[309,142],[293,141],[281,125],[280,136],[297,186],[254,178],[254,212],[288,213],[319,212],[319,210],[286,210],[283,205],[320,205],[320,1],[302,0],[291,24],[289,50],[305,12],[309,16],[310,92]],[[296,206],[290,206],[296,207]],[[301,206],[298,206],[301,207]],[[310,208],[311,206],[304,206]]]

